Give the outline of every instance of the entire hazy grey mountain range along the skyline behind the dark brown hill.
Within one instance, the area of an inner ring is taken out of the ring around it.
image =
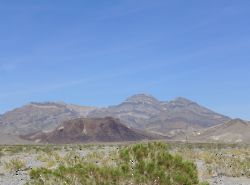
[[[186,98],[180,97],[170,101],[160,101],[151,95],[136,94],[118,105],[105,108],[79,106],[61,102],[32,102],[1,115],[0,133],[2,135],[13,135],[13,137],[22,135],[29,138],[33,136],[35,140],[40,139],[41,141],[49,142],[50,139],[48,138],[53,138],[51,135],[57,136],[58,128],[67,128],[65,124],[71,124],[71,120],[80,121],[81,119],[88,119],[84,123],[87,121],[93,125],[96,124],[95,129],[101,134],[100,132],[103,132],[103,130],[99,128],[100,125],[97,120],[100,118],[105,120],[107,117],[117,120],[116,123],[123,125],[123,128],[126,128],[124,130],[128,133],[136,130],[136,133],[138,132],[141,135],[147,133],[146,135],[148,136],[148,133],[151,133],[158,137],[175,139],[189,135],[194,139],[199,139],[202,136],[202,138],[210,138],[208,140],[211,140],[212,136],[206,133],[213,132],[209,131],[209,129],[218,129],[221,125],[233,121],[228,116],[216,113]],[[111,128],[109,130],[112,131]],[[223,131],[221,129],[220,132]],[[93,131],[93,133],[96,132]],[[198,137],[197,135],[194,136],[194,133],[202,134]],[[123,133],[122,135],[126,134]],[[94,141],[95,139],[96,137],[93,136],[91,139],[86,140],[85,138],[84,141]],[[117,141],[130,140],[129,138],[113,139]],[[96,140],[99,141],[98,139]],[[244,139],[241,140],[243,141]],[[74,140],[74,142],[76,141]]]

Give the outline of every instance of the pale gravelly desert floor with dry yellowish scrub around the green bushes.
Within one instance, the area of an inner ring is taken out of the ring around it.
[[[112,155],[132,143],[84,145],[12,145],[0,146],[0,184],[24,185],[32,169],[54,169],[78,158],[97,165],[112,162]],[[212,185],[250,184],[250,146],[236,144],[168,144],[171,154],[193,161],[199,179]]]

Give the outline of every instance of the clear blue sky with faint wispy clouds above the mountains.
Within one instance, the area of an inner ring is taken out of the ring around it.
[[[0,113],[185,97],[250,120],[249,0],[0,0]]]

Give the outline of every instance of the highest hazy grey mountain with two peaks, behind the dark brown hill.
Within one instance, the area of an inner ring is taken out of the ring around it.
[[[125,102],[91,111],[89,117],[112,116],[129,127],[174,136],[225,123],[229,117],[215,113],[185,98],[159,101],[146,94],[134,95]]]

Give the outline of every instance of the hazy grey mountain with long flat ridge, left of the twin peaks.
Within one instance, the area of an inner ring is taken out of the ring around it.
[[[65,103],[32,102],[0,116],[0,133],[19,135],[53,130],[62,121],[86,117],[94,109]]]

